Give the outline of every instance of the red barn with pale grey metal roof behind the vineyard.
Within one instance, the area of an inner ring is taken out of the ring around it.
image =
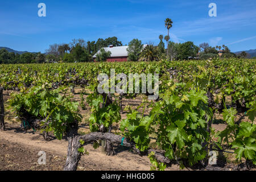
[[[143,45],[143,47],[146,47],[146,45]],[[128,58],[128,52],[127,52],[128,46],[118,46],[118,47],[113,47],[113,45],[109,47],[104,47],[105,51],[111,52],[110,57],[108,57],[107,61],[108,62],[123,62],[127,61]],[[100,53],[98,51],[97,53]],[[96,61],[96,55],[97,53],[93,56],[93,60]]]

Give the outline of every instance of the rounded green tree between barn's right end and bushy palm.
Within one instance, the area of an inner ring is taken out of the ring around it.
[[[143,49],[143,44],[141,43],[141,40],[138,40],[138,39],[131,40],[127,48],[128,60],[138,61],[139,54],[141,53],[142,49]]]

